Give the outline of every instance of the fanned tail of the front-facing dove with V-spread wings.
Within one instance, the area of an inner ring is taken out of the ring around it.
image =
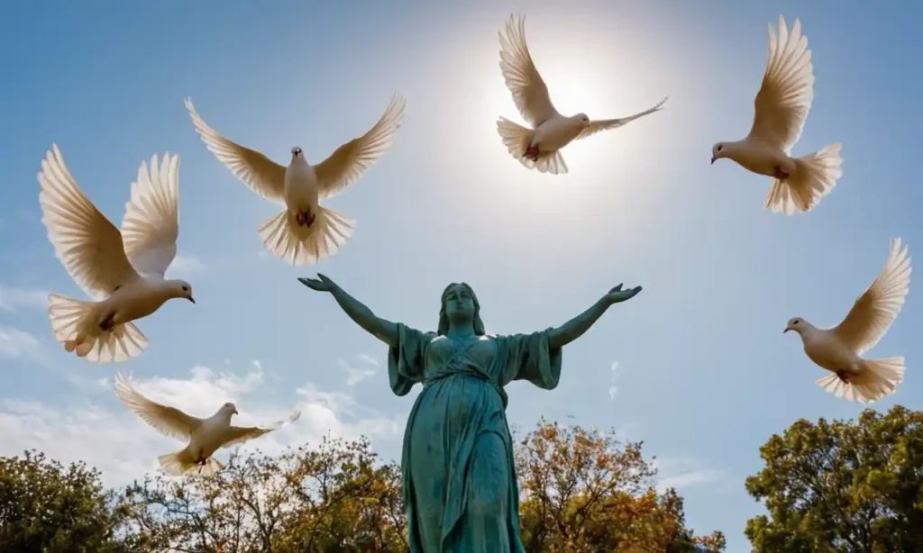
[[[295,266],[314,265],[336,253],[353,236],[355,220],[326,207],[314,211],[310,227],[298,225],[287,209],[259,226],[259,238],[276,257]]]

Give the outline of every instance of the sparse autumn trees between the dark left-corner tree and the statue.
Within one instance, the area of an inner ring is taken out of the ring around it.
[[[365,439],[325,440],[277,457],[233,455],[213,477],[156,476],[125,490],[144,550],[401,551],[400,468]]]

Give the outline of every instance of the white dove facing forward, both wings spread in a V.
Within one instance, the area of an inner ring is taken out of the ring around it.
[[[293,147],[292,160],[283,167],[219,135],[198,116],[192,100],[186,99],[196,131],[215,157],[254,192],[285,205],[281,213],[265,220],[258,232],[270,253],[296,266],[314,264],[336,253],[353,235],[354,219],[318,202],[341,192],[384,154],[401,126],[404,105],[403,98],[395,94],[384,115],[365,135],[343,144],[313,166],[300,147]]]

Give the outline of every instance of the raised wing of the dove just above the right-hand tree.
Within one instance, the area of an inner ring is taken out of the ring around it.
[[[857,355],[874,347],[887,332],[901,311],[910,291],[910,257],[901,239],[891,242],[891,254],[881,273],[859,296],[843,323],[833,327],[833,333]]]

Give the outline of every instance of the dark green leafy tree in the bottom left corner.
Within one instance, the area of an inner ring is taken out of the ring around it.
[[[100,473],[67,467],[44,453],[0,457],[0,549],[30,553],[122,551],[123,511],[104,492]]]

